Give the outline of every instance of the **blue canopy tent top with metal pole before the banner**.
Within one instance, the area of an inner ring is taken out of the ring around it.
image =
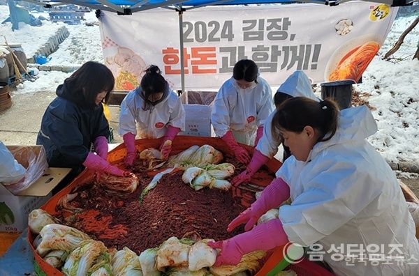
[[[201,8],[204,6],[226,6],[226,5],[251,5],[267,3],[318,3],[328,6],[337,6],[353,0],[24,0],[31,3],[51,8],[52,6],[64,5],[66,3],[78,6],[86,6],[97,10],[107,10],[119,15],[131,15],[132,13],[151,10],[153,8],[166,8],[174,10],[179,14],[179,48],[184,49],[182,39],[183,13],[186,10]],[[360,0],[376,3],[385,3],[390,6],[409,6],[418,0]],[[180,52],[181,86],[184,91],[184,52]]]

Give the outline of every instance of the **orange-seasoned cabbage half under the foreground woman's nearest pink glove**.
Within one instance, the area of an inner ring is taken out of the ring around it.
[[[249,271],[251,274],[256,273],[260,268],[259,260],[266,255],[265,251],[253,251],[242,257],[240,263],[236,266],[216,266],[210,268],[210,273],[214,276],[230,276],[242,271]]]

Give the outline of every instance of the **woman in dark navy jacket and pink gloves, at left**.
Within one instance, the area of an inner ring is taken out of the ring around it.
[[[116,176],[130,174],[106,160],[110,130],[102,102],[108,100],[114,84],[106,66],[88,61],[57,87],[57,98],[43,115],[36,144],[44,146],[50,167],[73,169],[63,183],[84,167]],[[90,151],[92,144],[96,154]]]

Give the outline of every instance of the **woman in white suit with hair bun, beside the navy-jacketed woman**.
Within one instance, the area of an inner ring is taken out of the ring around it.
[[[135,136],[139,139],[161,141],[161,155],[168,158],[175,136],[185,128],[185,112],[176,93],[161,75],[157,66],[149,66],[141,79],[140,86],[130,91],[121,103],[119,135],[126,145],[126,166],[132,166],[135,151]]]

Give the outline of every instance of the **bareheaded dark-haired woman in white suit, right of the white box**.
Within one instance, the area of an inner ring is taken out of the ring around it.
[[[274,110],[269,84],[258,77],[254,61],[242,59],[233,68],[233,77],[223,83],[214,99],[211,123],[240,162],[247,164],[250,155],[237,142],[256,146],[262,137],[263,124]]]

